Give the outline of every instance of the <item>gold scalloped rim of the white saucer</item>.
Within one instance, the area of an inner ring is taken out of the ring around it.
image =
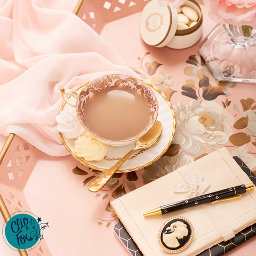
[[[138,79],[138,78],[137,78],[137,79]],[[138,79],[138,80],[142,81],[141,79]],[[172,143],[172,141],[173,141],[173,137],[174,137],[175,131],[176,131],[176,130],[175,130],[175,128],[176,128],[175,113],[174,113],[174,110],[173,110],[173,108],[172,108],[172,105],[171,105],[170,101],[166,98],[166,96],[165,96],[159,89],[157,89],[156,87],[154,87],[153,85],[151,85],[151,84],[148,83],[148,82],[145,82],[145,81],[142,81],[142,82],[145,83],[146,85],[150,86],[150,87],[153,88],[154,90],[156,90],[156,91],[166,100],[167,104],[170,106],[171,111],[172,111],[172,116],[173,116],[173,131],[172,131],[172,137],[171,137],[171,139],[170,139],[168,145],[167,145],[167,146],[164,148],[164,150],[162,151],[162,153],[159,154],[159,155],[158,155],[156,158],[154,158],[152,161],[148,162],[148,163],[145,164],[145,165],[141,165],[141,166],[138,166],[138,167],[133,168],[133,169],[118,170],[117,173],[137,171],[137,170],[140,170],[140,169],[142,169],[142,168],[144,168],[144,167],[146,167],[146,166],[148,166],[148,165],[154,163],[155,161],[157,161],[157,159],[159,159],[159,158],[167,151],[167,149],[170,147],[170,145],[171,145],[171,143]],[[74,91],[80,90],[82,87],[86,86],[88,83],[90,83],[90,81],[89,81],[89,82],[85,82],[85,83],[84,83],[83,85],[81,85],[81,86],[78,86]],[[70,98],[70,96],[68,96],[68,98]],[[63,110],[63,108],[65,107],[65,105],[66,105],[66,102],[63,102],[63,104],[62,104],[62,106],[61,106],[61,109],[60,109],[60,111],[59,111],[59,114],[61,113],[61,111]],[[89,163],[87,163],[86,161],[84,161],[84,160],[82,160],[81,158],[79,158],[79,157],[78,157],[77,155],[75,155],[75,154],[70,150],[70,148],[67,146],[66,141],[63,139],[62,133],[59,132],[59,134],[60,134],[61,142],[63,143],[63,145],[65,146],[65,148],[68,150],[68,152],[71,154],[71,156],[73,156],[75,159],[77,159],[80,163],[82,163],[82,164],[84,164],[84,165],[86,165],[86,166],[88,166],[88,167],[90,167],[90,168],[92,168],[92,169],[99,170],[99,171],[102,171],[102,172],[106,172],[106,171],[108,170],[108,169],[99,168],[99,167],[97,167],[97,166],[94,166],[94,165],[92,165],[92,164],[89,164]]]

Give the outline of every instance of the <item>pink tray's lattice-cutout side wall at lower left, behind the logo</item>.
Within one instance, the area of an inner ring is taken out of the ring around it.
[[[14,136],[11,145],[6,151],[3,161],[0,164],[0,195],[10,214],[18,211],[31,212],[23,195],[23,190],[40,153],[41,151],[18,135]],[[28,249],[27,254],[29,256],[52,255],[45,239],[42,239],[35,249],[31,251]]]

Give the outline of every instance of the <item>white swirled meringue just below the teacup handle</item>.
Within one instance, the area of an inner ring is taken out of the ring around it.
[[[63,109],[55,119],[58,124],[57,130],[67,139],[77,138],[85,130],[77,118],[75,108]]]

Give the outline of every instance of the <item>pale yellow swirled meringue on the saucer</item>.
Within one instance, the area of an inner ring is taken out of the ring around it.
[[[83,157],[85,161],[100,161],[107,153],[106,146],[87,133],[79,136],[75,141],[76,155]]]

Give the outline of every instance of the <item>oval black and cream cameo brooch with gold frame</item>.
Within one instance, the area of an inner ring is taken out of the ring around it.
[[[175,216],[163,223],[158,231],[158,243],[168,253],[185,250],[191,243],[194,228],[191,222],[182,216]]]

